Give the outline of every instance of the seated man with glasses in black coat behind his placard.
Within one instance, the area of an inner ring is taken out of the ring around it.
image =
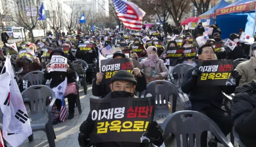
[[[211,44],[207,43],[199,48],[199,60],[214,60],[214,50]],[[223,107],[222,93],[231,94],[235,91],[235,86],[212,86],[212,85],[197,85],[197,79],[201,77],[202,72],[199,67],[191,68],[185,75],[181,85],[182,92],[189,95],[189,100],[192,104],[192,110],[198,111],[211,118],[221,129],[223,134],[227,136],[232,128],[231,116]],[[238,85],[241,75],[236,70],[232,73]],[[217,146],[218,139],[213,137],[208,142],[208,145]],[[202,133],[201,147],[207,146],[207,131]]]

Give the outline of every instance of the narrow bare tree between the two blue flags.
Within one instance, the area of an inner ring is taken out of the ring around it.
[[[49,13],[50,13],[50,19],[46,19],[49,26],[53,29],[55,38],[58,39],[58,30],[61,26],[61,0],[54,0],[50,1],[49,5],[47,5]]]

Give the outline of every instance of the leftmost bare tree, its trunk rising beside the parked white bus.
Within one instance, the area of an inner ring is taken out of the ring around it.
[[[31,42],[35,43],[33,29],[36,27],[38,18],[39,1],[27,0],[26,9],[21,0],[11,0],[14,12],[11,19],[24,29],[28,29],[31,35]]]

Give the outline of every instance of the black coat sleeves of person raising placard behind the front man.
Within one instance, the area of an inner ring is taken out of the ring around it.
[[[147,89],[147,81],[145,78],[145,74],[141,71],[140,72],[142,77],[137,77],[137,86],[135,88],[136,91],[142,92]],[[105,97],[111,92],[109,84],[96,84],[96,79],[93,80],[92,83],[92,95],[94,96],[101,96]]]

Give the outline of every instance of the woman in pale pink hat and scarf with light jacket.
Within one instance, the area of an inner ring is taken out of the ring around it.
[[[169,75],[164,61],[162,59],[158,59],[156,52],[157,48],[155,46],[149,46],[147,48],[148,57],[142,60],[142,62],[139,62],[138,55],[136,53],[132,54],[134,67],[141,70],[144,69],[147,83],[154,80],[164,80]]]

